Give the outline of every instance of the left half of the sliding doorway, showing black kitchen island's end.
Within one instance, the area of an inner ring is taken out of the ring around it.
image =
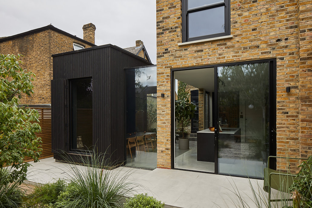
[[[214,131],[208,128],[211,119],[207,118],[213,108],[206,96],[214,92],[214,68],[183,70],[173,75],[176,103],[185,99],[196,106],[191,119],[189,116],[179,119],[176,113],[179,106],[175,106],[174,167],[214,172]]]

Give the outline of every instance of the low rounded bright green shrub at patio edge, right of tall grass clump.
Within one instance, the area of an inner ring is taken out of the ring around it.
[[[137,194],[132,198],[126,199],[124,203],[124,208],[163,208],[164,203],[158,201],[152,196],[147,196],[147,194]]]

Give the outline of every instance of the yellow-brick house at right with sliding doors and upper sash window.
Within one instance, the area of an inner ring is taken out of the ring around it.
[[[312,154],[311,1],[156,7],[158,168],[262,177],[270,155]],[[197,108],[187,150],[175,140],[180,82]],[[296,171],[299,161],[271,164]]]

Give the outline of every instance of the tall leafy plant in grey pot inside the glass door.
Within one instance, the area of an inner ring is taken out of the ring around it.
[[[196,111],[195,108],[196,106],[188,98],[175,101],[175,120],[178,122],[178,128],[182,132],[182,137],[179,137],[179,149],[189,149],[189,138],[186,137],[185,127],[190,124]]]

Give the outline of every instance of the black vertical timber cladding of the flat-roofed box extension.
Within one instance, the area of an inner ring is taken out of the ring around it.
[[[152,64],[110,44],[52,57],[52,149],[70,151],[70,110],[65,107],[70,106],[70,89],[65,86],[70,79],[92,77],[93,144],[99,152],[106,151],[111,161],[124,162],[124,69]]]

